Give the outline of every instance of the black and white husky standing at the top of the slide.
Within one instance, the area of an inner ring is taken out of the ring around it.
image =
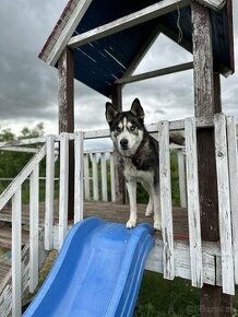
[[[144,110],[135,98],[129,111],[118,111],[106,103],[106,119],[110,137],[122,158],[123,174],[130,201],[127,227],[136,225],[136,183],[148,192],[145,215],[154,212],[154,228],[160,230],[158,142],[144,127]]]

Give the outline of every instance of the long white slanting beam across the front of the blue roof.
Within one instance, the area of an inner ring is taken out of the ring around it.
[[[103,37],[109,36],[111,34],[121,32],[129,27],[135,26],[138,24],[147,22],[155,17],[162,16],[169,12],[177,10],[178,8],[187,7],[191,3],[191,0],[163,0],[153,5],[150,5],[140,11],[133,12],[123,17],[117,19],[110,23],[104,24],[102,26],[95,27],[88,32],[80,35],[73,36],[68,46],[70,48],[75,48],[83,46],[90,42],[100,39]]]

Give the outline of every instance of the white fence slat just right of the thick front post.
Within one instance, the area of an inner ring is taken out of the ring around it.
[[[219,209],[219,236],[222,250],[223,292],[235,295],[234,258],[230,223],[229,169],[227,158],[226,117],[214,116],[216,171]]]

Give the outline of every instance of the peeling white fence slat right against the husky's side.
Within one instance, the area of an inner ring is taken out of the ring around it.
[[[168,121],[160,121],[158,131],[164,278],[172,280],[175,278],[175,257]]]

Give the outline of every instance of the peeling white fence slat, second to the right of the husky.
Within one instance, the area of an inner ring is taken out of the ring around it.
[[[185,120],[185,128],[191,280],[193,286],[202,287],[203,263],[195,119],[187,118]]]

